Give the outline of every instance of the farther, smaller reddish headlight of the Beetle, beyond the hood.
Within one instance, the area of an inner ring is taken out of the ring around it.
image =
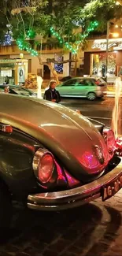
[[[109,154],[113,154],[113,151],[115,150],[115,136],[113,130],[105,127],[103,129],[102,135],[105,140],[105,144],[107,146]]]

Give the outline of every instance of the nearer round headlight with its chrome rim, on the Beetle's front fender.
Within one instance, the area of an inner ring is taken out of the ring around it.
[[[35,171],[35,176],[42,184],[50,182],[54,173],[54,166],[54,157],[50,152],[43,149],[35,152],[32,167]]]

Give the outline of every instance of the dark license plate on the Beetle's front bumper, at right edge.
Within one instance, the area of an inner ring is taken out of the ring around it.
[[[109,198],[111,198],[113,195],[116,194],[122,187],[122,173],[120,173],[120,176],[116,177],[115,180],[110,182],[109,184],[105,185],[102,188],[102,201],[105,201]]]

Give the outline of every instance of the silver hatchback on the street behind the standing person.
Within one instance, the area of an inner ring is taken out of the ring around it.
[[[72,78],[57,86],[61,97],[83,97],[89,100],[102,98],[107,91],[107,83],[102,78]]]

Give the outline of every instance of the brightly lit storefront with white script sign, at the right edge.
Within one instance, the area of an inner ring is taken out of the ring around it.
[[[109,39],[107,76],[118,76],[122,66],[122,39]],[[84,75],[106,76],[106,39],[90,40],[84,53]]]

